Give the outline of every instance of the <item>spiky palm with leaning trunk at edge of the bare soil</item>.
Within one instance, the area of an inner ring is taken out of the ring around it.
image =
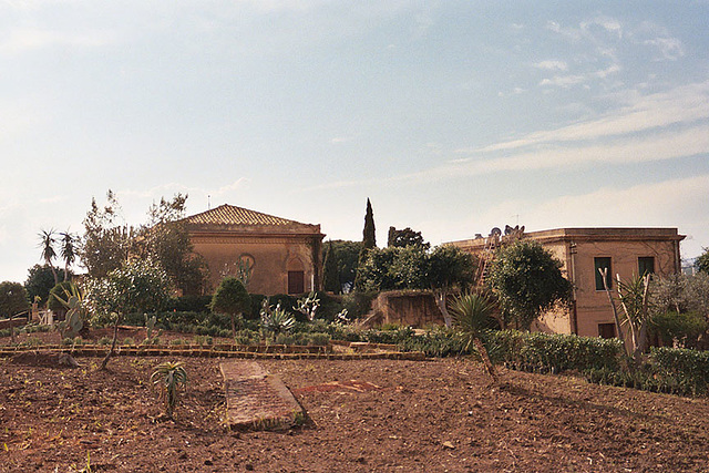
[[[481,292],[466,292],[455,299],[450,305],[450,312],[453,316],[454,326],[467,337],[467,345],[475,345],[475,349],[480,353],[480,358],[485,366],[485,370],[492,381],[497,383],[497,373],[495,366],[490,360],[487,349],[483,345],[480,335],[482,330],[489,329],[494,325],[492,317],[495,304]]]

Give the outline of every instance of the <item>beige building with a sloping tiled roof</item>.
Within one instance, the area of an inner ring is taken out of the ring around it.
[[[319,289],[320,225],[301,224],[233,205],[183,220],[194,251],[209,267],[216,288],[226,276],[248,273],[248,291],[273,296]]]

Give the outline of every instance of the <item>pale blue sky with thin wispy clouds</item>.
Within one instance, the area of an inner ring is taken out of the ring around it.
[[[677,227],[709,247],[707,1],[0,0],[0,280],[112,189],[377,241]],[[80,267],[75,270],[81,271]]]

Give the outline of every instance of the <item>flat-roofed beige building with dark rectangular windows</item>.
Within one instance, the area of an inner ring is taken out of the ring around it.
[[[482,255],[491,238],[452,244]],[[522,238],[537,240],[552,251],[574,285],[572,308],[544,315],[533,329],[608,338],[615,335],[615,323],[598,268],[608,268],[613,275],[612,289],[616,274],[623,280],[646,273],[677,274],[681,270],[679,241],[685,236],[677,228],[557,228],[525,233]]]

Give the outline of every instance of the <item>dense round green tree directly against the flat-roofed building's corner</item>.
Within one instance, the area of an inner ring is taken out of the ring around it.
[[[562,263],[538,241],[521,240],[502,247],[492,263],[490,284],[505,325],[530,330],[532,322],[556,302],[571,298],[572,285]]]

